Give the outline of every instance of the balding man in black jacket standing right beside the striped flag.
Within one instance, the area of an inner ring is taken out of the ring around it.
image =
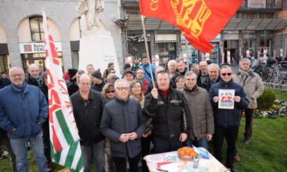
[[[84,171],[90,171],[91,154],[96,164],[96,171],[105,169],[105,137],[100,132],[100,120],[105,100],[98,91],[91,89],[89,75],[82,74],[77,81],[79,91],[71,96],[74,120],[79,128]]]

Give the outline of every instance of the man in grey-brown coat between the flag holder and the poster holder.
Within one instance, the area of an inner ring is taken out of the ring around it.
[[[191,112],[187,146],[195,145],[208,150],[208,141],[213,138],[215,132],[213,108],[210,104],[208,92],[206,89],[197,86],[197,75],[194,72],[187,72],[184,79],[185,84],[180,91],[184,94]]]

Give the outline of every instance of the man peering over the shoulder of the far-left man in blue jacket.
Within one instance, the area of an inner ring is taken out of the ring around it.
[[[39,66],[34,63],[29,64],[28,72],[29,74],[24,81],[29,85],[39,87],[42,84]]]

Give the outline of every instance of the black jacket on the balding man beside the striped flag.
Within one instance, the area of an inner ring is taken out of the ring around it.
[[[89,99],[85,101],[77,91],[71,96],[71,100],[81,145],[93,145],[105,139],[100,132],[100,120],[105,104],[102,94],[90,89]]]

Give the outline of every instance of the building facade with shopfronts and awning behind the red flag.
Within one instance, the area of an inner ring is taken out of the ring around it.
[[[138,0],[121,0],[125,11],[124,31],[126,40],[126,55],[145,56]],[[230,1],[232,5],[232,1]],[[210,53],[210,60],[221,63],[221,53],[224,52],[227,62],[227,51],[234,56],[236,63],[241,57],[263,57],[264,50],[273,57],[279,56],[283,49],[286,56],[287,41],[287,1],[286,0],[245,0],[236,14],[232,16],[226,27],[210,42],[215,48]],[[187,54],[190,63],[202,60],[204,52],[197,51],[187,43],[180,30],[158,18],[146,17],[144,21],[148,35],[149,53],[159,55],[160,63]],[[275,50],[275,51],[274,51]]]

